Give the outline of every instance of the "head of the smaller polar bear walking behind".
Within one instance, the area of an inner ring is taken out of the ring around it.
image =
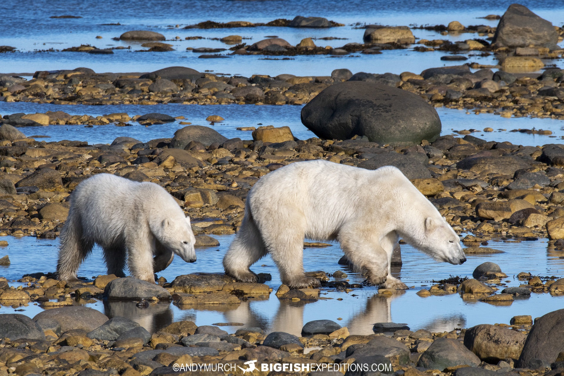
[[[180,221],[165,218],[161,222],[160,231],[159,241],[162,245],[168,247],[184,261],[196,262],[196,251],[194,250],[196,238],[190,226],[190,217],[187,216],[186,220]]]

